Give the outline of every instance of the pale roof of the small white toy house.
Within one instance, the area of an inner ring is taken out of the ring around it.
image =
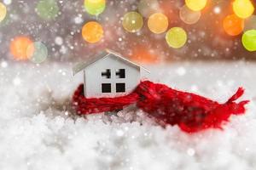
[[[86,67],[88,67],[90,65],[93,65],[94,63],[96,63],[96,61],[108,57],[109,54],[113,54],[113,56],[115,56],[116,58],[122,59],[123,61],[125,61],[126,63],[128,63],[130,65],[133,65],[137,68],[143,68],[143,70],[148,71],[143,66],[137,65],[136,63],[132,62],[129,59],[125,59],[125,57],[123,57],[121,54],[118,54],[118,53],[116,53],[116,52],[114,52],[113,50],[110,50],[110,49],[105,49],[104,51],[102,51],[99,54],[96,54],[94,57],[90,58],[86,62],[79,63],[78,65],[75,65],[73,67],[73,75],[76,75],[79,71],[83,71]]]

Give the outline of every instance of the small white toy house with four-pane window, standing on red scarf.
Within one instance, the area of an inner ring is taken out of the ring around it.
[[[142,68],[107,49],[89,61],[76,65],[73,75],[84,71],[86,98],[118,97],[130,94],[137,87]]]

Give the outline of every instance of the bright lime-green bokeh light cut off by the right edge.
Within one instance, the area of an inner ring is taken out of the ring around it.
[[[256,51],[256,30],[249,30],[244,32],[241,38],[244,48],[248,51]]]

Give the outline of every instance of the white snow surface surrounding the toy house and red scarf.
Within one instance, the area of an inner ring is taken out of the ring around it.
[[[75,116],[82,74],[73,65],[2,63],[0,169],[249,170],[256,168],[256,64],[180,62],[148,66],[149,80],[224,102],[239,86],[251,99],[224,130],[183,133],[142,111]]]

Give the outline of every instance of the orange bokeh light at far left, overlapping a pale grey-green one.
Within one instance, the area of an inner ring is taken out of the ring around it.
[[[32,45],[32,40],[29,37],[15,37],[10,43],[10,52],[17,60],[26,60],[30,56],[26,54],[28,46]]]

